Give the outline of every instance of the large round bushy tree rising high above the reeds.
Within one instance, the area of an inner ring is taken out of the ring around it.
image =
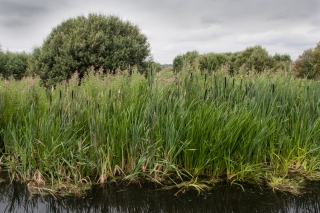
[[[89,14],[54,28],[43,45],[34,49],[28,72],[51,86],[75,71],[81,78],[91,66],[105,72],[139,67],[149,55],[147,37],[138,26],[116,16]]]

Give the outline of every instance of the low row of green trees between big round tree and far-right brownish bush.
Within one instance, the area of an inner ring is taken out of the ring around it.
[[[254,70],[263,72],[265,70],[288,70],[292,60],[288,54],[269,55],[266,49],[257,45],[248,47],[241,52],[207,53],[199,54],[197,51],[190,51],[178,55],[173,60],[173,70],[179,72],[185,66],[198,66],[201,71],[214,71],[225,66],[230,74],[239,71]]]

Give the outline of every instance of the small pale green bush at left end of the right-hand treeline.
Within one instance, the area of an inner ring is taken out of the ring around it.
[[[188,51],[183,55],[178,55],[173,59],[172,69],[174,72],[181,71],[188,64],[194,66],[196,58],[199,56],[198,51]]]

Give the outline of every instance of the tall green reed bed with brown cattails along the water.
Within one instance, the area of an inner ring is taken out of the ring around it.
[[[78,82],[47,90],[38,78],[0,80],[0,159],[12,180],[201,190],[227,179],[287,190],[320,176],[319,82],[188,67],[147,77],[91,69]]]

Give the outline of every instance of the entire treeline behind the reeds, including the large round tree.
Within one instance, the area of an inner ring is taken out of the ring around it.
[[[191,51],[174,58],[175,72],[186,66],[197,66],[202,71],[225,66],[230,74],[293,70],[297,77],[313,79],[320,76],[320,43],[304,51],[294,63],[287,54],[270,55],[261,46],[254,46],[234,53]],[[101,14],[78,16],[62,22],[52,29],[42,46],[30,54],[4,52],[0,48],[0,75],[3,78],[38,75],[46,87],[70,79],[75,72],[81,80],[92,67],[103,70],[104,74],[135,68],[145,74],[162,69],[153,60],[147,37],[137,25]]]

